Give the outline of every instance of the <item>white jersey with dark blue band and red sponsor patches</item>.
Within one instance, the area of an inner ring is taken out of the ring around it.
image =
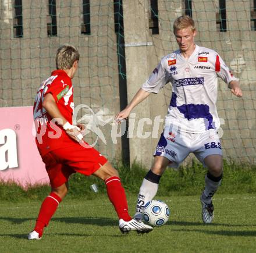
[[[163,57],[141,88],[158,93],[170,81],[172,98],[165,126],[173,125],[187,133],[203,133],[220,125],[216,110],[217,77],[227,84],[239,80],[214,50],[195,45],[189,59],[179,50]]]

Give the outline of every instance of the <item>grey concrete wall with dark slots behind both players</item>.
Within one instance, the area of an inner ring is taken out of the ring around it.
[[[95,113],[101,111],[108,120],[119,111],[118,60],[114,29],[113,1],[91,1],[91,35],[80,33],[82,1],[57,2],[57,37],[47,36],[47,1],[23,0],[23,38],[13,38],[13,8],[11,0],[1,1],[0,47],[0,106],[33,105],[35,93],[42,80],[55,69],[55,52],[59,45],[70,43],[79,48],[79,72],[73,79],[74,102],[86,104]],[[216,3],[218,1],[193,1],[193,18],[198,35],[198,45],[215,49],[234,74],[240,78],[244,96],[235,98],[227,85],[219,80],[219,117],[224,135],[225,158],[256,162],[256,31],[250,30],[250,1],[226,1],[227,32],[216,30]],[[172,23],[182,15],[182,1],[158,0],[159,34],[152,35],[148,28],[148,0],[123,0],[123,17],[126,43],[126,77],[128,101],[157,66],[162,56],[177,49]],[[146,166],[162,131],[159,126],[154,138],[138,138],[138,123],[143,118],[143,136],[154,129],[155,117],[164,119],[169,105],[169,84],[151,95],[134,109],[130,117],[130,160],[136,159]],[[87,111],[88,112],[88,111]],[[80,112],[79,116],[85,112]],[[140,123],[143,123],[140,121]],[[133,127],[134,125],[134,127]],[[118,145],[111,140],[111,125],[99,126],[106,138],[105,145],[98,141],[96,148],[108,158],[120,157]],[[96,136],[89,134],[93,143]],[[191,159],[190,156],[189,159]],[[189,160],[187,160],[188,162]]]

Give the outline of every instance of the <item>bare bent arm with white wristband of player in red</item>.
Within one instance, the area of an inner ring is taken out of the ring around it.
[[[54,96],[51,93],[47,93],[42,101],[42,107],[47,111],[47,113],[55,119],[56,122],[63,127],[66,133],[75,141],[81,140],[83,135],[80,133],[79,127],[73,126],[70,124],[65,117],[61,114],[56,105]]]

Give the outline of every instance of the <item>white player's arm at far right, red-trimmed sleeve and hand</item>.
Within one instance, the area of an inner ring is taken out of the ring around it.
[[[243,92],[239,85],[239,79],[233,76],[229,67],[218,54],[216,54],[215,59],[215,72],[218,77],[221,77],[221,79],[229,85],[230,91],[236,95],[236,97],[242,97]]]

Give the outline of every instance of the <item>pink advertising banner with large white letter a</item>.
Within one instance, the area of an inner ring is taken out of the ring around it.
[[[0,108],[0,180],[48,184],[48,174],[33,136],[33,106]]]

